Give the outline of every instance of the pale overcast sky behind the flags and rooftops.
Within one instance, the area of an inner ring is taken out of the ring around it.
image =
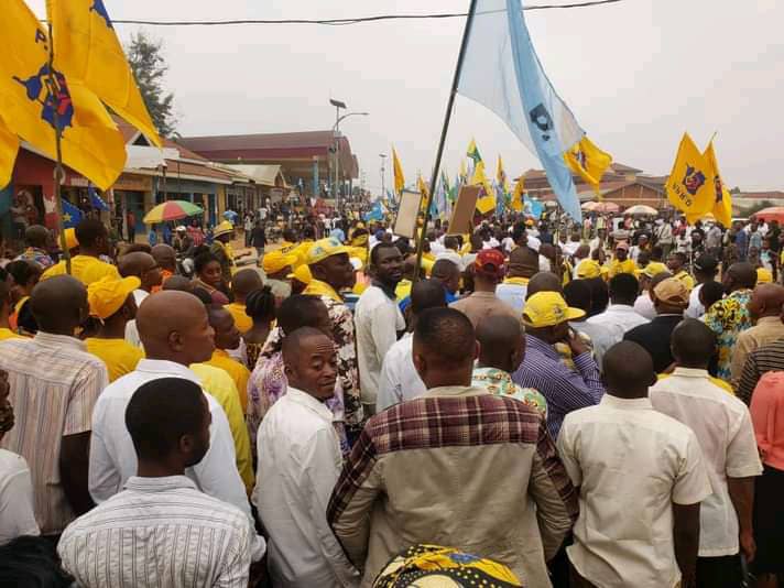
[[[44,0],[29,0],[41,15]],[[565,3],[529,0],[525,4]],[[467,0],[105,0],[113,19],[329,19],[466,11]],[[684,131],[718,131],[725,182],[784,188],[784,2],[624,0],[527,12],[540,58],[577,120],[618,162],[669,172]],[[367,186],[394,144],[406,179],[434,164],[464,19],[351,26],[146,28],[164,41],[183,135],[331,128],[330,96],[370,117],[341,126]],[[138,28],[118,25],[127,40]],[[514,177],[536,159],[483,107],[458,98],[448,149],[454,176],[471,137]],[[389,164],[388,164],[389,167]],[[388,172],[389,186],[391,173]]]

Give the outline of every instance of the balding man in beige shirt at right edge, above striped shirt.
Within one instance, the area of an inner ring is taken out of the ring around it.
[[[748,309],[754,326],[738,336],[738,344],[732,349],[730,368],[733,389],[738,389],[749,353],[784,337],[784,324],[781,322],[782,305],[784,305],[784,286],[780,284],[760,284],[751,294]]]

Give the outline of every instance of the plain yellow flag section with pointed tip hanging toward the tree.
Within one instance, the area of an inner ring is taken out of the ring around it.
[[[54,67],[92,90],[150,141],[163,146],[104,0],[47,0]]]

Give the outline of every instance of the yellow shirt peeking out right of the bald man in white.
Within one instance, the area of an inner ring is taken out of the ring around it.
[[[190,371],[202,380],[202,388],[218,401],[218,404],[226,413],[226,418],[229,421],[229,428],[231,429],[231,438],[235,442],[237,469],[248,493],[250,493],[253,490],[255,478],[253,477],[253,461],[250,457],[248,426],[244,422],[243,411],[240,407],[237,385],[231,377],[226,373],[226,370],[207,363],[193,363],[190,364]]]

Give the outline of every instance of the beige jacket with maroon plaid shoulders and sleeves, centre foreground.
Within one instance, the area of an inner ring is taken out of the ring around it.
[[[347,555],[364,569],[362,586],[395,553],[423,542],[470,545],[526,585],[544,586],[545,558],[576,516],[577,496],[544,417],[465,386],[429,390],[370,418],[327,510]]]

